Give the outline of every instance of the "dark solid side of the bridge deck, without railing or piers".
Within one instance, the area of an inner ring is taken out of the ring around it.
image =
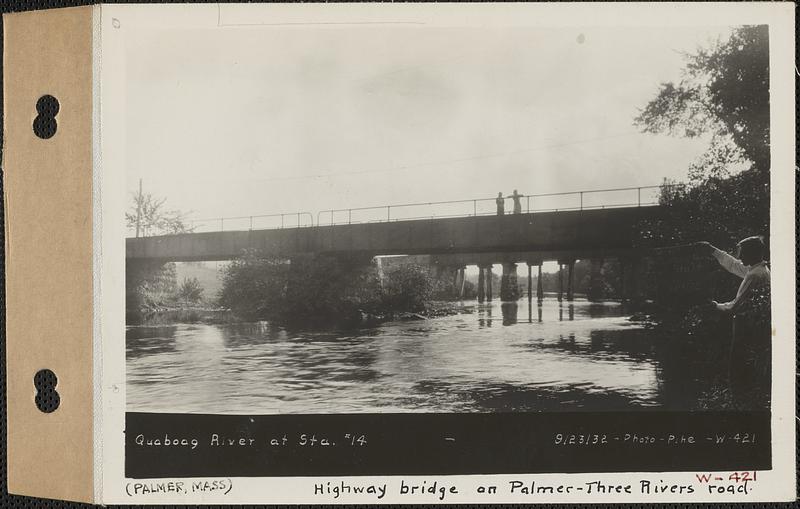
[[[221,261],[257,250],[352,256],[490,252],[586,253],[634,247],[637,225],[657,206],[388,221],[126,239],[128,260]]]

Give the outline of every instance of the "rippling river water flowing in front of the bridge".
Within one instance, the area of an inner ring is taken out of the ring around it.
[[[714,363],[617,302],[465,303],[348,331],[266,322],[132,326],[129,411],[186,413],[689,410]]]

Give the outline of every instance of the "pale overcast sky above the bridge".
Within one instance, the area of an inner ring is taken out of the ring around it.
[[[706,140],[632,120],[679,79],[679,52],[729,32],[140,30],[126,39],[127,187],[142,178],[171,208],[217,217],[681,180]]]

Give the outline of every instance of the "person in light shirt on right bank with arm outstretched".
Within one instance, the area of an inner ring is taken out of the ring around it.
[[[741,402],[748,390],[761,397],[770,384],[770,272],[764,261],[764,241],[747,237],[736,245],[738,259],[708,242],[698,242],[731,274],[742,279],[736,297],[729,302],[711,301],[714,307],[733,317],[728,358],[728,381],[734,401]],[[756,402],[760,406],[764,401]]]

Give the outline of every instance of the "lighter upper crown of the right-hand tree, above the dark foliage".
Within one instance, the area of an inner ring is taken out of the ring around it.
[[[690,178],[725,177],[749,161],[769,171],[769,31],[766,25],[733,30],[726,41],[685,54],[681,80],[663,83],[634,123],[644,132],[711,135],[709,150]]]

